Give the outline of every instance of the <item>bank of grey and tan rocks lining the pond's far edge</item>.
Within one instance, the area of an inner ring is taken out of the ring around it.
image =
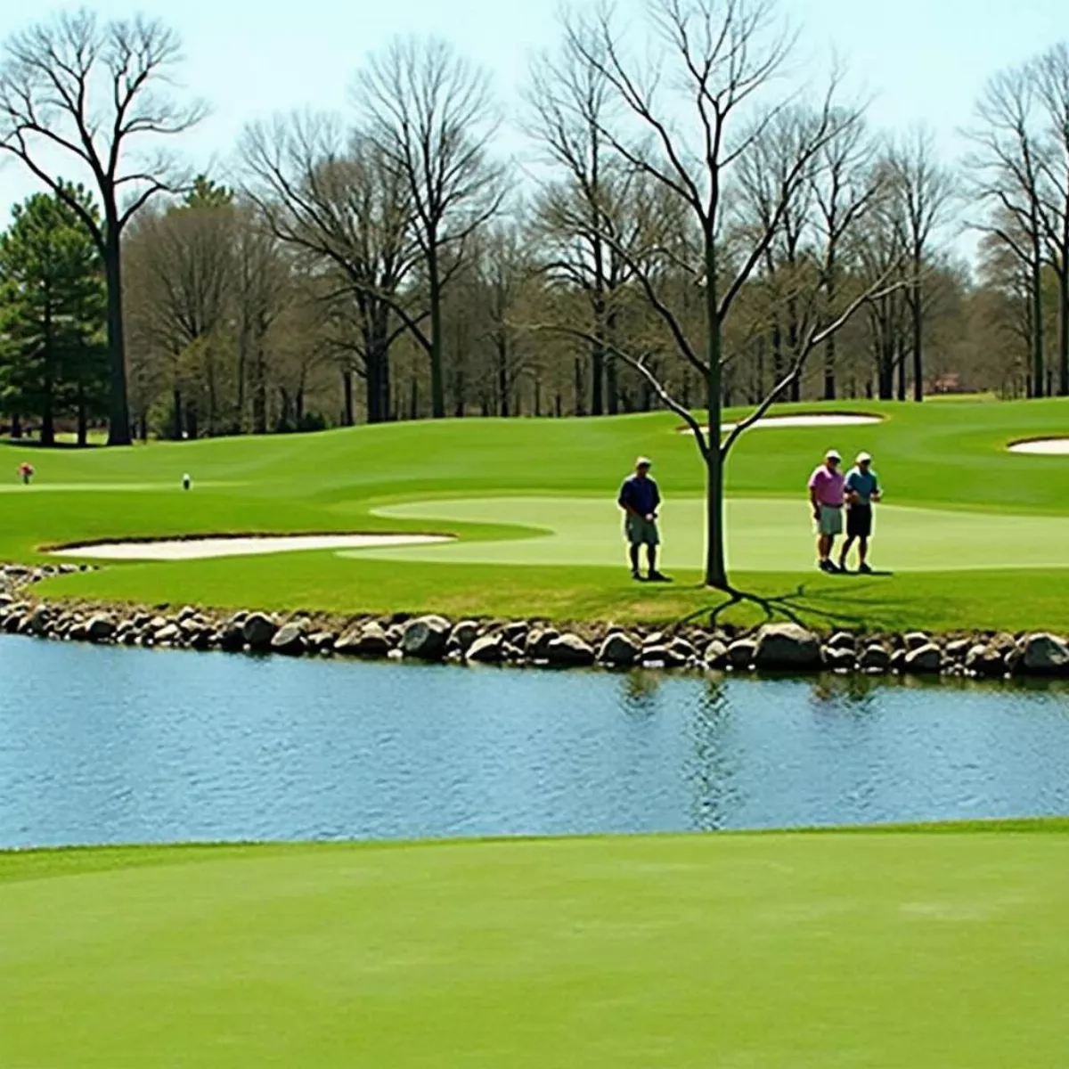
[[[0,631],[57,641],[288,656],[392,659],[424,663],[551,668],[692,669],[867,676],[1069,678],[1069,642],[1044,632],[939,636],[820,636],[793,623],[729,626],[554,626],[540,620],[459,620],[441,616],[338,618],[293,613],[221,614],[49,603],[34,598],[43,578],[79,566],[0,569]]]

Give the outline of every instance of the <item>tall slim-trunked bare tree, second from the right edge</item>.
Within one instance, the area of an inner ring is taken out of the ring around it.
[[[1032,392],[1042,397],[1047,373],[1043,353],[1042,270],[1044,243],[1044,148],[1035,129],[1034,71],[1020,67],[992,78],[976,105],[977,125],[969,133],[975,148],[966,159],[972,188],[988,208],[971,224],[990,234],[1024,265],[1032,301]]]

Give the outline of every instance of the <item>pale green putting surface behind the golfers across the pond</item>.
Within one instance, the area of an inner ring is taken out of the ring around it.
[[[694,568],[702,554],[698,498],[667,502],[662,512],[666,568]],[[749,572],[805,572],[815,559],[807,503],[786,498],[728,502],[728,555]],[[375,510],[434,529],[450,523],[514,524],[531,537],[459,541],[404,549],[345,551],[342,556],[495,564],[606,564],[624,557],[620,512],[592,497],[482,497],[415,501]],[[1016,516],[880,506],[872,560],[881,569],[961,571],[986,568],[1069,568],[1069,516]]]

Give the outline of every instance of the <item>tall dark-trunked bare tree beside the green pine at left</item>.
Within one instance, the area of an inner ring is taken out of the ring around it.
[[[204,113],[170,94],[181,60],[175,34],[155,19],[100,25],[89,12],[60,15],[10,37],[0,66],[0,150],[78,213],[104,261],[111,354],[110,445],[130,440],[122,305],[122,232],[156,193],[183,181],[173,162],[137,148],[181,134]],[[65,192],[53,157],[88,170],[103,220]]]

